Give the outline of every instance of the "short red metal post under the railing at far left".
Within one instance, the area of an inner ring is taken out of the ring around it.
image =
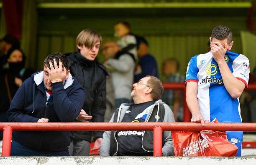
[[[12,133],[13,129],[10,126],[3,128],[2,156],[10,156]]]

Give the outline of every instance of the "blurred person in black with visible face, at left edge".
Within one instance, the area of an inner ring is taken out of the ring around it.
[[[26,56],[23,51],[11,48],[0,62],[0,122],[8,122],[7,110],[18,87],[26,78],[30,77],[34,70],[25,68]],[[2,144],[3,132],[0,131],[0,146]],[[0,148],[1,150],[1,148]]]

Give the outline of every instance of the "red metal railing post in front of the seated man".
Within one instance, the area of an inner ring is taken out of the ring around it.
[[[162,156],[162,131],[163,129],[159,126],[154,127],[153,133],[153,155]]]

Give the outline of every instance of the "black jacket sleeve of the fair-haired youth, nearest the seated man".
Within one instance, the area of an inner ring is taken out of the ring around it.
[[[102,73],[100,85],[97,87],[97,93],[92,106],[92,121],[104,122],[104,115],[106,111],[106,74]],[[104,131],[94,131],[93,137],[102,138]]]

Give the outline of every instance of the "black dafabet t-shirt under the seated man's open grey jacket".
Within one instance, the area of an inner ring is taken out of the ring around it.
[[[145,110],[154,101],[143,102],[141,104],[133,104],[125,112],[122,122],[144,122],[148,115],[148,110]],[[141,131],[117,131],[116,139],[118,140],[118,156],[151,156],[143,150],[141,146],[142,140]]]

